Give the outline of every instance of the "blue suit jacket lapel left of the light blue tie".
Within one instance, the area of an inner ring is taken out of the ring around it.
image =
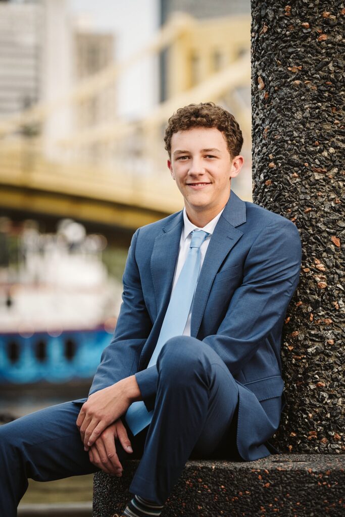
[[[155,239],[151,255],[151,275],[156,296],[157,314],[161,310],[165,314],[168,307],[182,227],[183,212],[181,211]]]

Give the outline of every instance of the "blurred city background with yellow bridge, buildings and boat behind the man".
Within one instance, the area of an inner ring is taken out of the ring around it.
[[[209,100],[250,201],[249,0],[0,1],[0,424],[86,396],[131,235],[183,207],[167,120]]]

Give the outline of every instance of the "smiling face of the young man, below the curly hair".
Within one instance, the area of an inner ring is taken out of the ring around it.
[[[215,212],[214,217],[219,213],[229,199],[230,178],[241,169],[239,158],[238,166],[217,128],[196,127],[172,135],[168,167],[187,212]]]

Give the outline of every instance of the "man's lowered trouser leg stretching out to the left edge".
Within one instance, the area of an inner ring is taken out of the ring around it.
[[[66,402],[0,427],[0,515],[17,515],[28,478],[51,481],[96,472],[76,426],[80,407]]]

